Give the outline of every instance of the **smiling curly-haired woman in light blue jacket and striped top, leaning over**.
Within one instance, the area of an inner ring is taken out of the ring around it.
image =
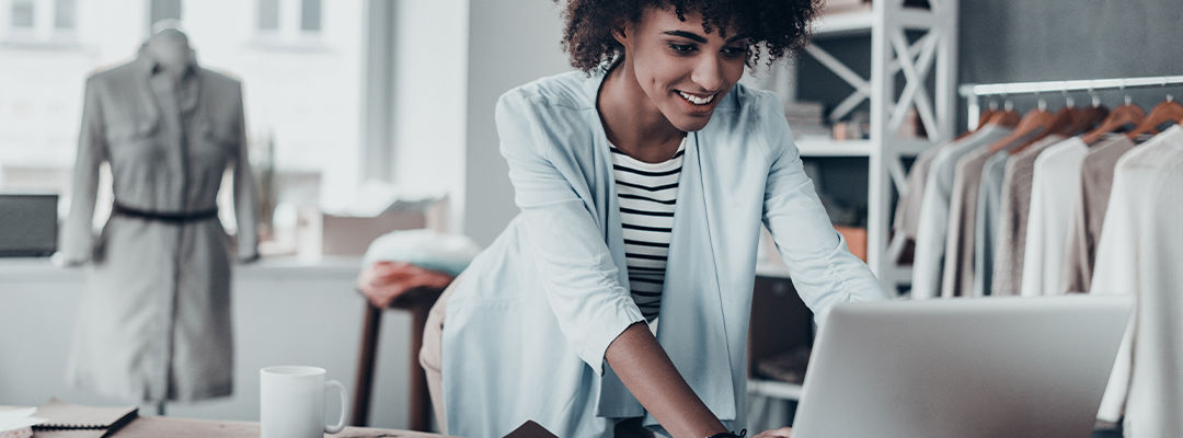
[[[532,419],[561,437],[733,436],[762,221],[819,324],[885,296],[828,221],[782,102],[737,84],[801,44],[813,1],[614,4],[567,5],[587,73],[497,104],[522,213],[440,298],[421,354],[451,434]]]

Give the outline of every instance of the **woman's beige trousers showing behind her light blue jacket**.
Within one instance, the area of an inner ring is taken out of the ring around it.
[[[439,421],[440,433],[447,434],[447,412],[444,407],[444,320],[447,315],[447,299],[455,285],[464,278],[461,273],[452,285],[440,294],[435,305],[427,314],[427,326],[424,327],[424,347],[419,350],[419,365],[427,374],[427,391],[432,394],[432,410]],[[641,425],[641,418],[628,418],[616,423],[615,438],[653,438],[653,431]]]

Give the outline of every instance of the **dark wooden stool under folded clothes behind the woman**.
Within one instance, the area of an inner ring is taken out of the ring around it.
[[[432,421],[432,399],[427,391],[427,375],[419,365],[419,350],[424,346],[424,327],[427,313],[444,289],[415,288],[399,296],[388,309],[411,313],[411,407],[409,419],[413,431],[428,431]],[[370,394],[374,389],[374,362],[377,359],[377,334],[382,322],[380,309],[366,299],[366,321],[362,322],[362,343],[357,356],[357,380],[354,385],[354,412],[350,424],[367,426],[369,423]]]

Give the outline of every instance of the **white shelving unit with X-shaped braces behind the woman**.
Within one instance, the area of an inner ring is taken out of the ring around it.
[[[842,120],[862,102],[870,101],[868,140],[801,137],[796,139],[796,144],[804,157],[867,159],[867,264],[888,291],[911,283],[911,268],[896,262],[904,247],[903,238],[890,240],[892,194],[905,188],[903,159],[916,156],[953,136],[957,1],[929,0],[930,8],[911,8],[904,6],[904,0],[874,0],[871,7],[862,11],[823,15],[814,22],[813,43],[804,49],[804,53],[854,89],[826,115],[830,122]],[[910,40],[909,36],[913,33],[920,36]],[[864,38],[867,41],[871,50],[870,78],[860,76],[814,44],[836,38]],[[930,72],[935,88],[927,85]],[[903,75],[905,85],[897,91],[899,75]],[[808,80],[797,75],[790,76],[791,80]],[[927,139],[899,135],[912,108],[916,108]],[[762,265],[757,273],[787,276],[784,269],[772,265]],[[749,380],[748,388],[749,394],[757,397],[754,413],[764,410],[769,399],[799,400],[801,397],[801,386],[787,382]]]

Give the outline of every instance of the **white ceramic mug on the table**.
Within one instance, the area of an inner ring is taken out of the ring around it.
[[[259,423],[263,438],[322,438],[324,432],[337,433],[345,427],[349,401],[345,386],[340,381],[324,381],[324,368],[266,367],[259,369]],[[341,418],[337,424],[324,424],[324,392],[336,388],[341,393]]]

